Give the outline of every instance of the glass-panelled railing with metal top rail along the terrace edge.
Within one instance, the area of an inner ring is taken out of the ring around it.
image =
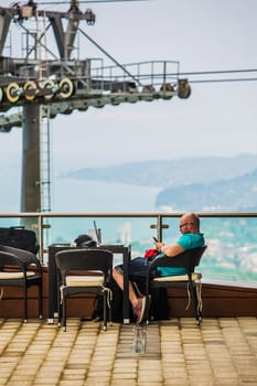
[[[47,265],[52,244],[71,244],[79,234],[101,230],[104,244],[131,245],[132,257],[153,247],[152,236],[165,244],[179,237],[182,213],[11,213],[0,214],[0,227],[34,229],[39,258]],[[201,271],[207,280],[257,285],[257,213],[199,213],[207,251]]]

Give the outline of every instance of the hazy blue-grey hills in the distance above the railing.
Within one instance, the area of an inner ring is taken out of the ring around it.
[[[257,154],[84,168],[62,178],[160,187],[156,206],[165,212],[257,212]]]

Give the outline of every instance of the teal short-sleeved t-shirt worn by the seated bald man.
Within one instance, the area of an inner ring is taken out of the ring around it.
[[[202,233],[185,233],[184,235],[180,236],[176,244],[179,244],[184,250],[203,247],[205,245],[204,235]],[[158,257],[161,256],[163,256],[163,254],[158,255]],[[183,267],[158,267],[158,271],[161,276],[176,276],[185,274],[185,269]]]

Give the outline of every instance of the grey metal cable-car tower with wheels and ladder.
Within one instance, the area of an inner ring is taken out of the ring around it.
[[[32,20],[34,30],[26,28]],[[13,127],[23,129],[21,212],[51,211],[50,157],[43,156],[50,147],[42,139],[49,138],[45,119],[86,111],[90,106],[188,98],[191,94],[188,79],[179,78],[179,62],[119,64],[79,26],[82,22],[93,25],[95,21],[94,12],[82,12],[77,0],[71,0],[66,12],[40,10],[33,0],[0,7],[0,132],[9,132]],[[21,57],[4,55],[8,49],[11,51],[9,34],[13,24],[25,37]],[[46,43],[50,31],[57,54]],[[78,33],[114,65],[104,66],[103,60],[72,58]],[[51,60],[43,58],[42,52]],[[19,106],[22,112],[7,114]]]

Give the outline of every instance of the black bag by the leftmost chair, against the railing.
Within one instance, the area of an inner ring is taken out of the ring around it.
[[[39,251],[34,230],[25,229],[24,226],[0,228],[0,245],[25,249],[34,255]]]

